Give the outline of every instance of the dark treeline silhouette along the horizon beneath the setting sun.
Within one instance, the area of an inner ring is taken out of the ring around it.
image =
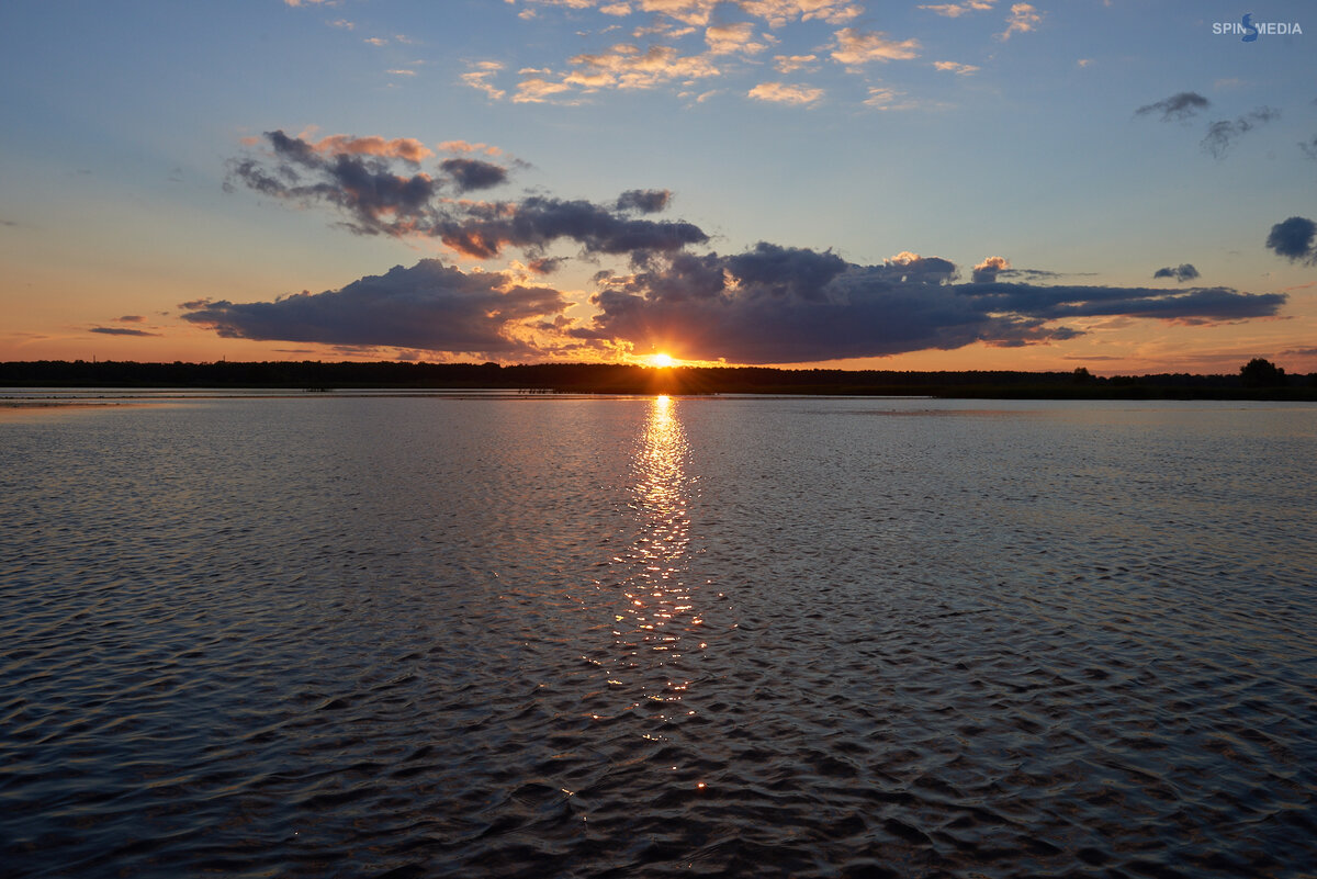
[[[1006,399],[1317,400],[1317,374],[1287,375],[1260,358],[1235,375],[1096,376],[1072,372],[777,370],[608,363],[411,363],[270,361],[0,363],[0,387],[97,388],[493,388],[576,393],[799,393]]]

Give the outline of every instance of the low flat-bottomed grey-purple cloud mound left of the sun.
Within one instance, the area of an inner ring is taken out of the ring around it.
[[[569,304],[556,289],[525,287],[503,272],[466,274],[423,259],[323,293],[184,304],[190,313],[183,320],[228,338],[522,357],[535,349],[519,337],[519,328],[552,318]]]

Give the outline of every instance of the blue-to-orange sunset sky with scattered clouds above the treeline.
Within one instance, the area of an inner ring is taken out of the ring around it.
[[[1312,9],[7,0],[0,361],[1314,372]]]

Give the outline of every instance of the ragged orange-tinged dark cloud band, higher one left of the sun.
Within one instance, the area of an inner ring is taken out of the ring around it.
[[[328,205],[346,217],[358,234],[424,236],[453,250],[486,259],[504,247],[520,247],[533,257],[557,239],[576,241],[586,253],[636,254],[680,250],[709,239],[698,226],[682,221],[656,221],[628,216],[631,211],[666,205],[656,191],[631,191],[619,207],[583,200],[529,196],[522,201],[466,201],[448,197],[446,189],[465,192],[506,179],[500,166],[475,159],[445,159],[440,176],[395,174],[391,157],[323,155],[302,138],[267,132],[269,158],[230,163],[225,183],[299,205]],[[637,193],[639,192],[639,193]]]

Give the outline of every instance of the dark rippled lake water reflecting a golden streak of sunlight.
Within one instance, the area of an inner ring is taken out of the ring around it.
[[[0,416],[0,872],[1312,876],[1317,408]]]

